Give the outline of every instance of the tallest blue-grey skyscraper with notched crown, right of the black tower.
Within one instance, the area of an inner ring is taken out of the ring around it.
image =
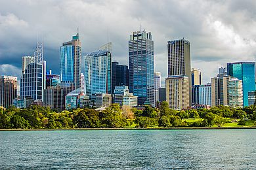
[[[154,41],[152,34],[145,30],[130,35],[129,90],[138,96],[138,105],[155,106]]]

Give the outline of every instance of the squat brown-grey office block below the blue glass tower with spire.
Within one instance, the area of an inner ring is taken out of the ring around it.
[[[43,106],[51,109],[65,109],[64,89],[58,86],[49,86],[43,91]]]

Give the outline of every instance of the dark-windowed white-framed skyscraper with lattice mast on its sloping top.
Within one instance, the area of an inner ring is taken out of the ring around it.
[[[37,42],[32,61],[26,66],[20,78],[20,97],[32,97],[43,101],[43,90],[46,87],[46,61],[43,61],[43,43]]]

